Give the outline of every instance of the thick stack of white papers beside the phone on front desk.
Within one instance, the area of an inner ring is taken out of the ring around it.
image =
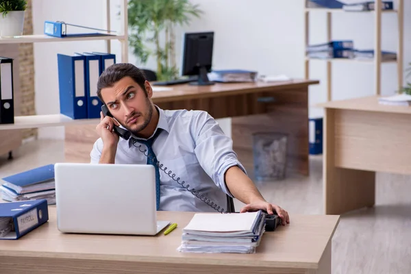
[[[197,213],[183,229],[180,252],[256,253],[265,232],[262,211]]]

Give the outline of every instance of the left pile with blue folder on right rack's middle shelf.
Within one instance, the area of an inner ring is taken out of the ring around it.
[[[353,40],[332,40],[307,47],[308,58],[354,58]]]

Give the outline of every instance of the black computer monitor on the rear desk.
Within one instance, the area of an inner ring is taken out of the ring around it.
[[[198,75],[197,82],[190,85],[208,86],[214,84],[208,80],[212,67],[212,48],[214,32],[192,32],[184,34],[182,53],[182,75]]]

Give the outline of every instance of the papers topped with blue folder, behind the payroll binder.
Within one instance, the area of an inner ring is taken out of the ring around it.
[[[40,166],[2,178],[1,198],[5,201],[46,199],[55,204],[54,165]]]

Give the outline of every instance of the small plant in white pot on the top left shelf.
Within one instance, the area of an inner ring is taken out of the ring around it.
[[[27,0],[0,0],[0,36],[23,35]]]

